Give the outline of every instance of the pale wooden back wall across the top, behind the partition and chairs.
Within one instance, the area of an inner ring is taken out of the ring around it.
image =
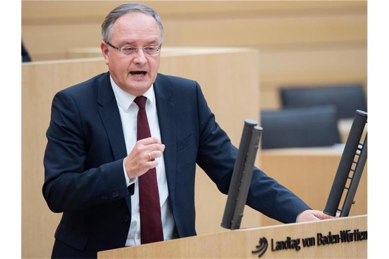
[[[105,15],[123,3],[22,1],[25,46],[33,60],[80,57],[77,49],[98,48]],[[367,90],[367,1],[139,3],[160,13],[164,47],[257,48],[262,109],[281,107],[282,85],[362,83]]]

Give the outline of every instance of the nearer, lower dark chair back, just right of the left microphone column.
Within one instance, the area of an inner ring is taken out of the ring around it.
[[[262,149],[340,143],[335,106],[262,111],[261,126]]]

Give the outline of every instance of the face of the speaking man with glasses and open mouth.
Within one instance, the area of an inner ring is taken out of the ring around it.
[[[109,43],[119,49],[160,46],[160,28],[152,16],[138,12],[126,14],[113,24]],[[141,96],[157,78],[160,54],[147,56],[143,49],[138,49],[136,54],[124,56],[119,50],[108,47],[104,41],[100,48],[113,81],[124,91]]]

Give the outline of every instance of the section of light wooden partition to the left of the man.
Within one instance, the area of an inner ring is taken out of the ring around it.
[[[22,258],[51,256],[62,215],[50,211],[42,194],[51,102],[59,90],[105,71],[98,60],[22,65]]]

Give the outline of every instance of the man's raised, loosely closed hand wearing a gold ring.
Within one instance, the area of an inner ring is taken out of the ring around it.
[[[130,154],[124,159],[124,167],[128,178],[139,177],[158,165],[155,158],[162,156],[165,145],[161,141],[150,137],[136,142]]]

